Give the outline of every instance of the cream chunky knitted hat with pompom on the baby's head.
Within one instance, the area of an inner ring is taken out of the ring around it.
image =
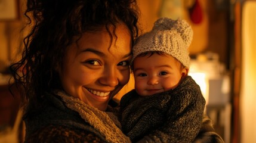
[[[192,37],[193,30],[185,20],[159,18],[150,32],[144,33],[136,40],[132,49],[132,61],[143,52],[161,51],[172,55],[183,66],[189,67],[188,48]]]

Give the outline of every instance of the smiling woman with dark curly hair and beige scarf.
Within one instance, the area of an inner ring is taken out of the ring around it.
[[[27,1],[32,30],[12,66],[24,89],[25,142],[130,142],[107,111],[129,80],[138,35],[135,5]]]

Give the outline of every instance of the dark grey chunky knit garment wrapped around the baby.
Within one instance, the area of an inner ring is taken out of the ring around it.
[[[187,76],[177,88],[149,97],[132,90],[120,104],[122,130],[132,142],[143,137],[152,142],[193,142],[201,128],[205,99]]]

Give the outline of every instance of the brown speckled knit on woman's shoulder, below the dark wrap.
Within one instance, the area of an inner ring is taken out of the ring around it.
[[[49,125],[26,136],[25,142],[106,142],[104,137],[91,130],[68,128],[66,126]]]

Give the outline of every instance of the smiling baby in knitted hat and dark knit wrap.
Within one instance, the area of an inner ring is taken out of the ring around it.
[[[135,89],[121,99],[123,132],[132,142],[193,142],[205,99],[189,73],[193,31],[186,21],[160,18],[133,48]]]

